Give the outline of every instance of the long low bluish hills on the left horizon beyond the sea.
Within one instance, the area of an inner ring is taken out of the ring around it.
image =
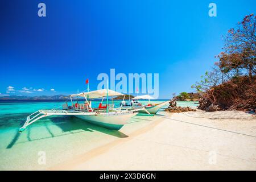
[[[56,96],[3,96],[0,100],[64,100],[64,95]]]

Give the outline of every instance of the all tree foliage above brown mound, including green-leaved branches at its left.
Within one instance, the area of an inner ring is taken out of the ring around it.
[[[212,71],[205,72],[192,88],[206,92],[210,88],[239,76],[256,74],[256,16],[246,15],[236,28],[224,36],[224,52],[218,56]]]

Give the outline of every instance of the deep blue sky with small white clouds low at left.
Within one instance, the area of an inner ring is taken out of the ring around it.
[[[47,7],[43,18],[40,2]],[[208,15],[210,2],[217,17]],[[2,0],[0,93],[76,93],[86,89],[86,78],[94,90],[98,74],[111,68],[159,73],[159,98],[191,92],[217,61],[221,36],[255,7],[253,0]]]

